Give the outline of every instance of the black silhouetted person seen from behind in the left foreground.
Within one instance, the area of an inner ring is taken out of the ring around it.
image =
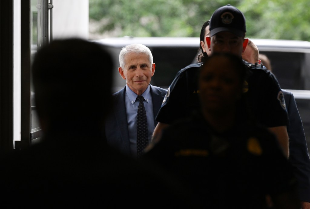
[[[142,207],[155,196],[151,208],[191,203],[160,169],[106,144],[112,70],[106,49],[83,39],[54,40],[37,52],[33,85],[43,138],[2,156],[1,208]]]

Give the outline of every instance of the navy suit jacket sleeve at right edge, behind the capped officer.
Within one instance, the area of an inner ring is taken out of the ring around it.
[[[294,95],[282,89],[286,103],[289,124],[287,133],[289,135],[289,161],[294,166],[294,174],[298,181],[300,201],[310,202],[310,159],[299,111],[297,109]]]

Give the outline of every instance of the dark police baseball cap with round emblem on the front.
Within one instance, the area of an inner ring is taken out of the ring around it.
[[[246,32],[246,18],[236,7],[227,4],[220,7],[211,16],[210,36],[228,31],[239,37],[243,37]]]

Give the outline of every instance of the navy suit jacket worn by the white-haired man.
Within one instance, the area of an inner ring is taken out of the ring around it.
[[[113,94],[113,111],[105,120],[105,136],[107,143],[121,152],[130,155],[129,131],[127,124],[127,115],[125,107],[126,86]],[[150,85],[150,93],[153,101],[154,125],[157,121],[155,117],[162,101],[165,98],[167,90]]]

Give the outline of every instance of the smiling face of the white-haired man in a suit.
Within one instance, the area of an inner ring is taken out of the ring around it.
[[[125,63],[124,69],[118,68],[120,75],[133,92],[141,95],[148,88],[154,75],[155,63],[150,63],[148,56],[143,53],[127,54]]]

